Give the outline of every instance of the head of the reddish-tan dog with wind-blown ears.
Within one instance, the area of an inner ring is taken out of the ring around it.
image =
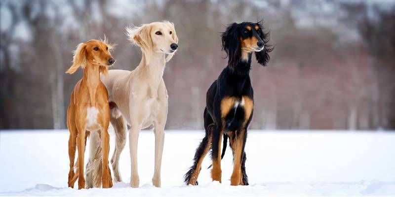
[[[115,63],[110,53],[113,48],[114,45],[107,43],[106,37],[104,40],[89,40],[79,43],[77,49],[73,52],[73,65],[66,73],[73,74],[79,67],[84,68],[86,65],[93,65],[99,66],[100,72],[106,75],[108,66]]]

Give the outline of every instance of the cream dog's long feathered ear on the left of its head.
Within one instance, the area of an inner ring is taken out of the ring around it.
[[[151,26],[144,24],[140,27],[126,28],[126,35],[128,39],[135,45],[141,47],[141,51],[144,53],[145,62],[147,65],[150,64],[151,51],[152,51],[152,39],[151,39]]]

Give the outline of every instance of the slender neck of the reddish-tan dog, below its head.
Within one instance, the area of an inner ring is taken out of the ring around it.
[[[96,104],[96,91],[100,81],[100,66],[88,64],[83,69],[81,85],[86,85],[89,93],[89,100],[92,105]]]

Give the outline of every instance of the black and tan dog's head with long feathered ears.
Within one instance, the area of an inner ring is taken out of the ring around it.
[[[268,45],[269,32],[264,32],[261,22],[233,23],[222,33],[222,50],[229,57],[228,65],[234,68],[238,61],[250,57],[255,52],[259,64],[267,66],[269,52],[273,48]],[[243,54],[243,57],[241,57]],[[246,57],[244,57],[246,55]]]

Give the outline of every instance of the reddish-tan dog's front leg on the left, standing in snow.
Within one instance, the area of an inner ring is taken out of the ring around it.
[[[85,177],[83,170],[83,159],[85,155],[85,129],[78,128],[78,136],[77,136],[77,149],[78,149],[78,189],[85,188]]]

